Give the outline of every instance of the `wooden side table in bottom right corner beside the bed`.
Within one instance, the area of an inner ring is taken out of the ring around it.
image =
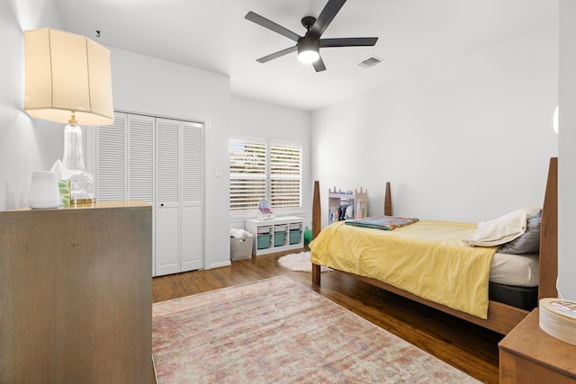
[[[540,328],[538,308],[500,341],[500,384],[576,383],[576,345]]]

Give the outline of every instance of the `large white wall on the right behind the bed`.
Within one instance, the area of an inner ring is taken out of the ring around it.
[[[558,25],[410,74],[312,114],[312,176],[368,190],[369,214],[478,222],[544,201],[558,101]]]

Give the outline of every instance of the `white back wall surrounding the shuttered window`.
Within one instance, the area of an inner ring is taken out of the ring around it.
[[[277,216],[296,214],[304,217],[304,225],[311,228],[311,113],[234,96],[230,116],[230,138],[269,138],[302,145],[302,210],[275,213]],[[230,228],[244,228],[244,219],[255,219],[254,215],[246,216],[238,211],[232,212],[231,216]]]

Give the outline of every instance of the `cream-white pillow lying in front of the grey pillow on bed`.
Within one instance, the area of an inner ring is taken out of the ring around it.
[[[540,208],[515,210],[498,219],[478,224],[478,229],[462,241],[469,246],[501,246],[521,236],[527,228],[527,219]]]

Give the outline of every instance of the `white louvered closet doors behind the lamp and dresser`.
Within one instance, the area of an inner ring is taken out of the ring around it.
[[[203,124],[114,116],[96,129],[96,199],[154,207],[153,276],[202,268]]]

